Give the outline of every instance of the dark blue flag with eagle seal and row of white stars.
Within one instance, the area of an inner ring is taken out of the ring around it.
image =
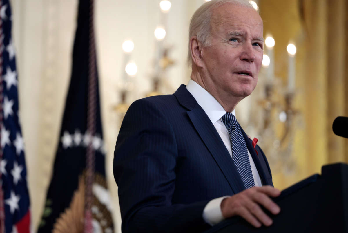
[[[113,232],[105,179],[93,0],[80,0],[72,73],[39,233]]]

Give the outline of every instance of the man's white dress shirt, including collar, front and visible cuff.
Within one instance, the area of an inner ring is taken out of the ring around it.
[[[191,95],[193,95],[193,98],[196,99],[199,106],[203,108],[203,110],[213,123],[217,133],[219,133],[221,140],[228,150],[228,153],[232,157],[230,136],[226,126],[222,122],[222,116],[226,114],[226,111],[223,109],[221,104],[217,102],[217,100],[211,94],[209,94],[209,92],[207,92],[203,87],[201,87],[192,79],[189,80],[186,88],[191,93]],[[235,115],[235,110],[232,111],[232,114]],[[256,169],[255,163],[251,157],[249,150],[248,155],[255,186],[260,187],[262,186],[260,175],[258,170]],[[205,222],[213,226],[224,220],[220,205],[225,197],[229,196],[219,197],[208,202],[203,210],[203,219],[205,220]]]

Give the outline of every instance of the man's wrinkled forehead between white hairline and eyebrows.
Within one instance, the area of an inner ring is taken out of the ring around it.
[[[219,25],[248,25],[263,30],[263,22],[259,13],[249,7],[238,6],[233,3],[225,3],[213,9],[211,27],[219,28]]]

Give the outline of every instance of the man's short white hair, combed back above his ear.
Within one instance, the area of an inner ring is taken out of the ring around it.
[[[204,47],[211,46],[211,25],[210,21],[212,18],[213,9],[225,4],[231,3],[237,6],[248,7],[255,9],[248,0],[211,0],[200,6],[195,13],[192,15],[189,29],[189,53],[187,61],[191,64],[191,49],[190,39],[192,36],[196,36],[197,40],[202,43]],[[256,10],[256,9],[255,9]],[[257,11],[257,10],[256,10]]]

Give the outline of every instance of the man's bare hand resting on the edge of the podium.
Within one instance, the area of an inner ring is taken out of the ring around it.
[[[280,211],[279,206],[270,197],[277,197],[280,191],[272,186],[252,187],[227,197],[221,202],[221,211],[224,218],[240,216],[255,227],[272,225],[273,221],[264,213],[260,207],[263,205],[274,215]]]

